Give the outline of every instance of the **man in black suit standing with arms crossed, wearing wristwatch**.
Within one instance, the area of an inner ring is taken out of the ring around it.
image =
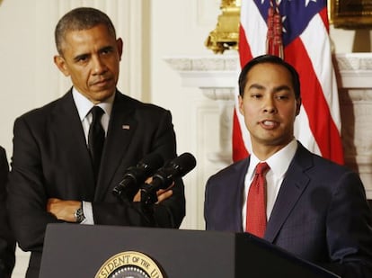
[[[105,13],[77,8],[55,31],[58,69],[72,89],[57,101],[14,121],[13,160],[8,184],[11,224],[20,247],[31,251],[27,277],[38,277],[49,223],[178,228],[185,215],[182,180],[157,192],[155,221],[135,193],[121,202],[112,191],[125,170],[150,153],[176,157],[171,113],[120,94],[116,85],[122,40]],[[90,157],[91,108],[103,113],[101,164]],[[149,210],[151,211],[151,210]]]

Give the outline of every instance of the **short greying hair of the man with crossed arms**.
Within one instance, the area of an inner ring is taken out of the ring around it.
[[[91,7],[79,7],[66,13],[58,21],[54,31],[59,55],[63,55],[63,42],[67,31],[88,30],[100,24],[105,25],[112,37],[116,39],[115,27],[106,13]]]

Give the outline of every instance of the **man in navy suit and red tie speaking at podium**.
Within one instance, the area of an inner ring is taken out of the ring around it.
[[[242,69],[239,91],[252,154],[208,179],[206,228],[252,229],[246,216],[259,210],[247,210],[247,195],[256,166],[266,162],[262,238],[342,277],[372,277],[372,217],[359,175],[294,138],[301,105],[295,68],[275,56],[254,58]]]

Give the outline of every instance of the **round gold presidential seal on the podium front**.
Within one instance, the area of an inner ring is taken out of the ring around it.
[[[111,256],[95,278],[165,278],[155,262],[143,253],[127,251]]]

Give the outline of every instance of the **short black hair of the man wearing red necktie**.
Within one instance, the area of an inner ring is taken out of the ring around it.
[[[279,58],[278,56],[273,56],[273,55],[261,55],[256,58],[252,58],[245,66],[243,67],[240,75],[239,75],[239,94],[243,97],[244,95],[244,88],[245,85],[247,84],[248,81],[248,72],[254,67],[255,65],[258,64],[275,64],[275,65],[280,65],[282,67],[286,67],[290,73],[290,76],[292,76],[292,85],[293,85],[293,90],[295,91],[295,96],[296,98],[301,97],[300,93],[300,81],[299,81],[299,76],[297,73],[297,70],[295,67],[292,67],[289,65],[286,61],[284,61],[282,58]]]

